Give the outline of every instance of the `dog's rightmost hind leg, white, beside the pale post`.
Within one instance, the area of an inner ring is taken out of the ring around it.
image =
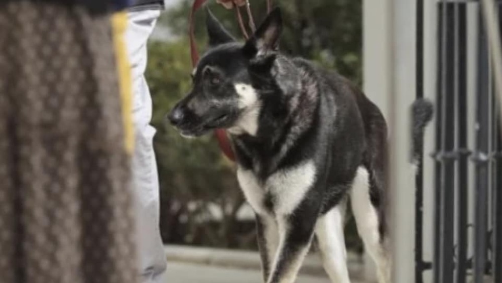
[[[376,264],[379,283],[390,282],[389,255],[384,247],[384,240],[379,231],[378,213],[371,203],[369,195],[368,171],[359,167],[352,183],[350,201],[357,231],[364,242],[364,247]]]

